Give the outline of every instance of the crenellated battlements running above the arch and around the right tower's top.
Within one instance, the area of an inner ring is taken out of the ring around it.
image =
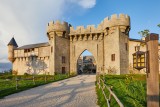
[[[125,14],[113,14],[111,17],[106,17],[97,27],[95,25],[77,26],[76,29],[70,27],[70,35],[72,34],[86,34],[86,33],[100,33],[104,29],[115,26],[130,26],[130,17]]]

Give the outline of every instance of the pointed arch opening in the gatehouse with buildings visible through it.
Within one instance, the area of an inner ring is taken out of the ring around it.
[[[85,50],[77,59],[77,74],[95,74],[96,60],[92,53]]]

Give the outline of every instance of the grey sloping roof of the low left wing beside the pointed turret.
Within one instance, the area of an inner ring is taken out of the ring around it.
[[[37,43],[37,44],[24,45],[24,46],[21,46],[21,47],[19,47],[17,49],[31,49],[31,48],[38,48],[38,47],[45,47],[45,46],[49,46],[49,43],[45,42],[45,43]]]

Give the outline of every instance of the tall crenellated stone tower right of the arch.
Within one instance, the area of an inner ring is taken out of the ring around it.
[[[100,24],[104,31],[105,68],[116,74],[127,74],[129,69],[129,31],[128,15],[112,15]]]

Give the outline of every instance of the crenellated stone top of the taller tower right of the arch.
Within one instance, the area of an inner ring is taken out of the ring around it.
[[[125,14],[113,14],[110,18],[106,17],[101,24],[103,29],[115,26],[130,26],[130,17]]]

